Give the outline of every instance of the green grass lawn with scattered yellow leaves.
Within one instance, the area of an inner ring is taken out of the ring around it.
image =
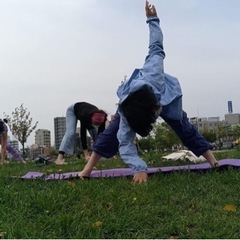
[[[240,159],[240,150],[216,156]],[[171,164],[157,154],[145,159],[149,166]],[[131,178],[49,182],[11,178],[28,171],[78,171],[84,165],[83,160],[68,161],[73,163],[10,163],[0,168],[0,238],[240,238],[239,170],[157,174],[144,185],[132,185]],[[119,159],[97,165],[116,167],[125,165]],[[235,210],[225,210],[226,205]]]

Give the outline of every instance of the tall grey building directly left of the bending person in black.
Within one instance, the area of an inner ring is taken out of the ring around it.
[[[55,137],[54,141],[56,150],[59,150],[65,131],[66,131],[66,117],[54,118],[54,137]]]

